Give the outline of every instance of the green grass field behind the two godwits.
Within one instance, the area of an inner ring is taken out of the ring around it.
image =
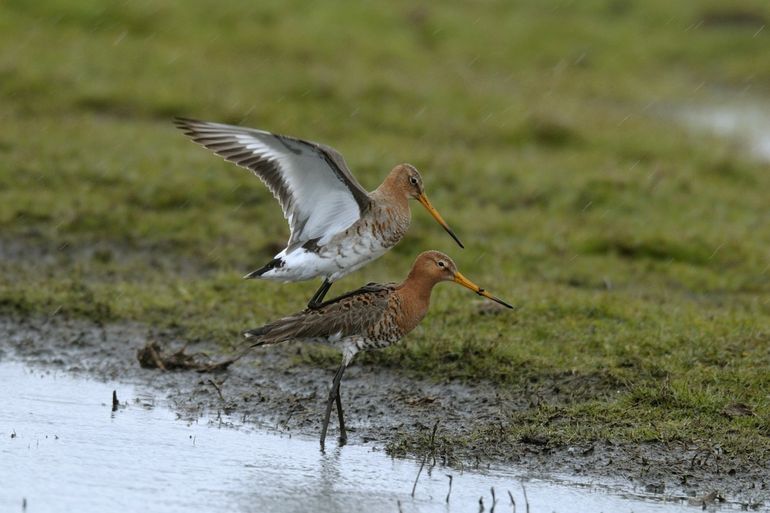
[[[334,291],[435,248],[517,305],[439,286],[365,362],[513,394],[582,383],[512,413],[513,439],[767,454],[770,173],[677,113],[767,101],[769,20],[759,0],[6,1],[0,311],[228,350],[301,308],[317,283],[239,278],[287,237],[270,194],[170,118],[243,123],[333,145],[369,189],[415,164],[466,244],[416,205],[405,240]]]

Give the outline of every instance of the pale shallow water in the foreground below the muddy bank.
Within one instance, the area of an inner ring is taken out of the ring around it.
[[[122,406],[112,410],[112,391]],[[371,447],[180,420],[131,385],[0,362],[0,511],[697,511],[681,500],[613,495],[597,485],[420,467]],[[453,476],[449,503],[449,479]]]

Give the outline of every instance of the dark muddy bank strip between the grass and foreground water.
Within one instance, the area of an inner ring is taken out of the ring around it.
[[[2,358],[132,383],[167,399],[183,417],[220,412],[262,428],[311,436],[320,432],[335,370],[299,363],[299,344],[255,349],[223,372],[146,369],[137,359],[140,348],[154,341],[165,350],[178,349],[183,341],[139,324],[99,326],[60,317],[0,317],[0,341]],[[206,349],[211,348],[186,350]],[[342,397],[353,444],[417,452],[419,457],[422,447],[409,441],[426,439],[438,421],[436,454],[452,465],[515,463],[537,473],[577,474],[666,496],[712,494],[750,509],[770,502],[768,462],[732,461],[718,451],[704,453],[681,444],[551,447],[538,439],[472,438],[478,430],[491,433],[489,426],[505,425],[511,411],[528,405],[520,391],[501,392],[489,383],[439,383],[354,363],[344,377]],[[331,436],[336,432],[333,420]],[[452,444],[470,438],[472,443]]]

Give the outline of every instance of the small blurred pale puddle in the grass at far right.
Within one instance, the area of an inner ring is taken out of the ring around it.
[[[756,104],[735,104],[693,109],[684,119],[693,128],[742,141],[758,159],[770,162],[770,109]]]

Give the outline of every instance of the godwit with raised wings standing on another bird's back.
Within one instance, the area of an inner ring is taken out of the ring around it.
[[[315,308],[332,283],[382,256],[409,228],[409,199],[419,201],[463,247],[428,201],[410,164],[394,167],[367,192],[334,148],[293,137],[207,121],[177,118],[193,141],[250,169],[270,189],[289,222],[286,248],[245,276],[283,282],[323,277],[308,303]]]

